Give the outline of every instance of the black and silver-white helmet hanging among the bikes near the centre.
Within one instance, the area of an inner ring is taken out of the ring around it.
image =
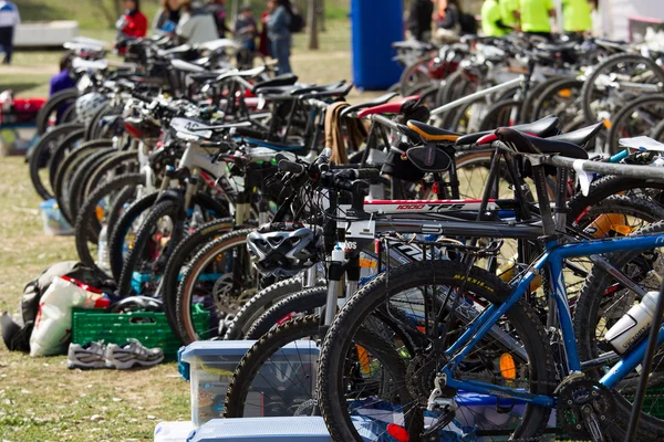
[[[253,267],[263,275],[293,276],[324,255],[319,229],[300,223],[266,224],[247,236]]]

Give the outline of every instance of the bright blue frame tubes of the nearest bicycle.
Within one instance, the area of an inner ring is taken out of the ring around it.
[[[552,280],[551,296],[556,299],[556,307],[562,332],[562,341],[567,356],[568,372],[580,372],[581,361],[574,339],[572,316],[568,304],[567,290],[562,274],[563,260],[568,257],[590,256],[601,253],[629,252],[664,246],[664,235],[647,235],[634,238],[619,238],[610,240],[585,240],[572,244],[559,245],[556,241],[547,244],[546,252],[528,269],[511,295],[500,305],[491,304],[475,320],[470,327],[445,351],[450,360],[443,368],[446,386],[480,394],[515,398],[539,406],[554,407],[556,399],[543,394],[533,394],[522,389],[496,386],[473,380],[457,380],[453,378],[455,368],[473,350],[488,333],[488,330],[505,315],[523,295],[536,275],[542,273],[548,266]],[[658,345],[664,343],[664,326],[660,328]],[[600,383],[612,388],[620,382],[630,371],[643,360],[647,339],[632,348],[600,379]]]

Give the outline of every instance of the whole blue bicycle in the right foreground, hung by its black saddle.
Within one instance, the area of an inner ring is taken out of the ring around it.
[[[508,128],[496,135],[497,148],[532,166],[543,253],[507,284],[473,265],[490,250],[423,244],[456,249],[460,257],[388,270],[355,293],[325,335],[319,366],[319,404],[335,441],[539,441],[547,433],[623,440],[647,333],[619,348],[606,335],[661,285],[664,223],[614,239],[570,236],[562,229],[564,186],[558,186],[551,208],[544,180],[551,166],[558,167],[559,185],[568,181],[567,168],[581,181],[585,171],[662,180],[664,170],[574,159],[582,156],[573,145]],[[372,231],[371,220],[360,222]],[[446,234],[468,238],[470,230]],[[593,267],[570,306],[563,263],[579,256],[603,265]],[[547,324],[527,302],[541,277],[548,284],[539,290],[550,298]],[[469,306],[479,312],[471,319],[459,314]],[[414,323],[414,315],[421,320]],[[658,338],[662,345],[664,327]],[[664,355],[657,354],[639,441],[664,440],[656,412],[658,401],[664,406],[662,386]]]

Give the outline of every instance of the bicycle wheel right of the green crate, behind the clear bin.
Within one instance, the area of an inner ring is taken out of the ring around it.
[[[259,276],[251,266],[247,235],[252,229],[227,233],[203,248],[190,261],[178,286],[176,312],[179,334],[185,344],[222,335],[220,325],[227,315],[256,295]],[[194,315],[209,313],[206,329],[198,329]]]

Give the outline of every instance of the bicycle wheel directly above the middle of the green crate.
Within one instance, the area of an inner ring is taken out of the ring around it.
[[[154,296],[173,250],[209,217],[225,218],[228,211],[214,198],[196,193],[191,214],[187,215],[178,200],[165,200],[149,209],[136,233],[133,248],[123,262],[117,282],[122,294]]]

